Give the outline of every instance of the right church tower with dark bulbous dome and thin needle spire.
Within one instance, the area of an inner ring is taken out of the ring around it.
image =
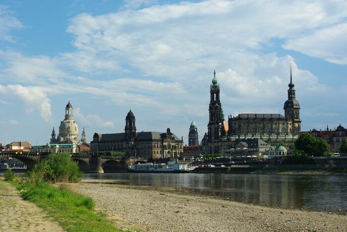
[[[288,89],[288,100],[285,102],[284,110],[285,110],[285,116],[287,119],[291,121],[291,125],[289,124],[288,132],[291,135],[300,135],[300,104],[295,99],[295,89],[294,84],[292,82],[291,77],[291,64],[290,64],[290,83],[289,83],[289,89]]]

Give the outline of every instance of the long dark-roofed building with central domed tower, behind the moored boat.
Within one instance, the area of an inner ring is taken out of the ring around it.
[[[166,132],[136,132],[135,116],[130,110],[125,117],[124,133],[98,134],[91,141],[91,152],[121,152],[143,158],[177,158],[182,155],[183,141],[170,128]]]

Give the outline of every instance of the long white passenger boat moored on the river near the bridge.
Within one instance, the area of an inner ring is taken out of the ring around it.
[[[188,173],[188,165],[169,161],[168,164],[134,164],[128,168],[129,172],[135,173]]]

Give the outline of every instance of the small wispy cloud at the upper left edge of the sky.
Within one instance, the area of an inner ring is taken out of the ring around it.
[[[22,23],[13,16],[13,12],[5,5],[0,5],[0,40],[13,42],[11,30],[23,28]]]

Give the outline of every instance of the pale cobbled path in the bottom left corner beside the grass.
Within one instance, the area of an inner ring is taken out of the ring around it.
[[[13,186],[0,180],[0,231],[63,230],[36,205],[24,201]]]

